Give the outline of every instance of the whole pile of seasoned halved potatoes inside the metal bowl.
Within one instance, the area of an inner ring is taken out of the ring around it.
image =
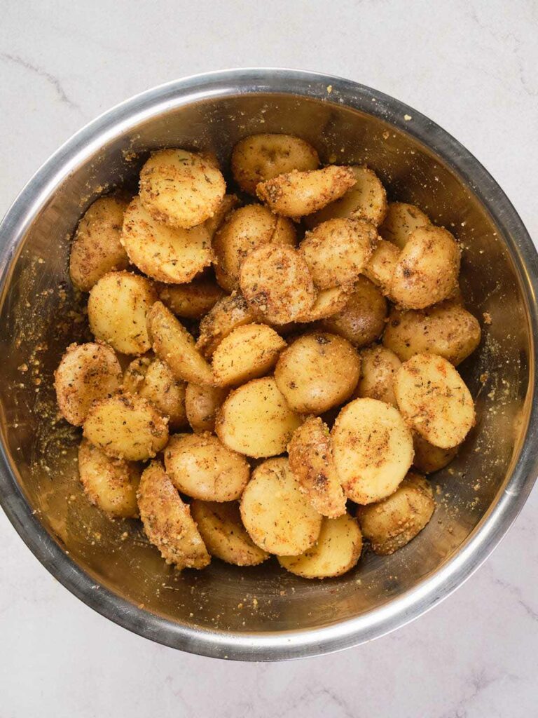
[[[57,401],[88,499],[169,564],[339,576],[363,536],[391,554],[425,527],[424,475],[474,424],[461,248],[298,137],[242,139],[231,169],[235,193],[214,155],[155,151],[136,197],[90,206],[70,276],[95,342]]]

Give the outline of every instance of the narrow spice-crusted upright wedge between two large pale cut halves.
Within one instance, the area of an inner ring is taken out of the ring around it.
[[[293,433],[288,454],[291,472],[313,508],[331,518],[346,513],[326,424],[316,416],[306,419]]]

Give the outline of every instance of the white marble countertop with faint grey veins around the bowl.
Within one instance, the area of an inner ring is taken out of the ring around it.
[[[343,75],[438,121],[538,238],[534,0],[4,0],[0,214],[57,146],[166,80],[280,66]],[[435,610],[344,653],[227,663],[138,638],[72,597],[0,512],[0,714],[530,717],[537,712],[538,491]]]

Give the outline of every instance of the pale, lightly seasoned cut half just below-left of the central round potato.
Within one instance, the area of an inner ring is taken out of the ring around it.
[[[232,451],[263,458],[282,454],[302,421],[286,403],[274,378],[266,377],[230,393],[217,414],[215,431]]]

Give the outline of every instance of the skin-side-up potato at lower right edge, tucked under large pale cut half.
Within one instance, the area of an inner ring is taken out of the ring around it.
[[[369,506],[357,518],[364,538],[380,556],[394,554],[423,530],[435,510],[433,491],[424,477],[409,473],[395,493]]]

